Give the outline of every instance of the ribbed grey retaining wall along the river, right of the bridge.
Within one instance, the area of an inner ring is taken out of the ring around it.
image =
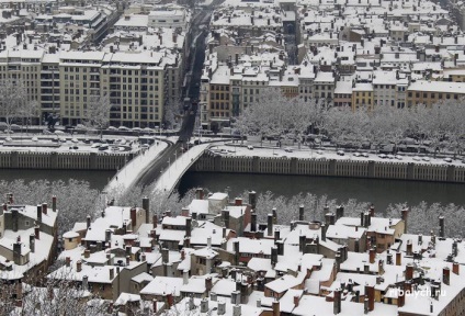
[[[190,169],[202,172],[272,173],[465,182],[465,168],[373,160],[228,157],[204,154]]]

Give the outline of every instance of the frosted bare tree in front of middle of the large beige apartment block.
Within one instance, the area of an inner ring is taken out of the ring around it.
[[[87,109],[84,108],[84,124],[89,127],[97,128],[102,138],[102,131],[109,125],[110,122],[110,95],[90,95]]]

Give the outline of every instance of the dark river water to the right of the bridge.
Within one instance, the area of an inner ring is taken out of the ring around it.
[[[179,191],[183,194],[189,189],[200,187],[209,191],[227,190],[230,198],[245,190],[257,193],[272,191],[275,195],[287,198],[310,192],[326,194],[339,202],[349,199],[372,202],[378,210],[385,210],[390,203],[416,205],[421,201],[465,205],[465,184],[401,180],[189,172],[182,178]]]

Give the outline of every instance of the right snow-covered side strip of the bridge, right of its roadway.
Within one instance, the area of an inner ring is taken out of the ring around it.
[[[170,161],[169,166],[167,166],[168,168],[163,170],[163,173],[156,180],[155,190],[171,192],[184,172],[188,171],[199,157],[211,146],[212,144],[196,145],[178,156],[174,161]]]

